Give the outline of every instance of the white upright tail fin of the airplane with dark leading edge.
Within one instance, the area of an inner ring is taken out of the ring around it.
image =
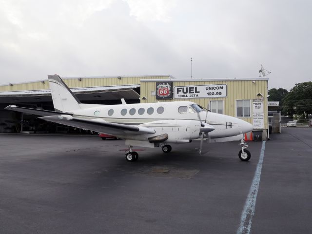
[[[58,75],[48,75],[48,78],[55,111],[68,112],[81,109],[79,105],[81,102]]]

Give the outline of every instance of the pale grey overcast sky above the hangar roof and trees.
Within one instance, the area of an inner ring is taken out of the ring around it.
[[[311,81],[311,0],[0,0],[0,84],[47,75]]]

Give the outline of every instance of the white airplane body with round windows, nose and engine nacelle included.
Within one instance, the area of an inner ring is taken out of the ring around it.
[[[206,111],[199,111],[198,105],[190,101],[137,103],[121,105],[98,105],[87,109],[74,110],[73,117],[87,119],[102,119],[127,125],[139,125],[155,129],[155,134],[130,137],[136,140],[146,140],[147,137],[169,134],[165,142],[187,143],[200,137],[200,124],[205,121]],[[198,112],[199,111],[199,112]],[[197,115],[198,112],[198,115]],[[209,133],[211,138],[231,137],[251,131],[252,125],[246,121],[222,114],[207,113],[206,123],[215,127]],[[117,137],[123,138],[116,134]],[[129,138],[129,136],[127,136]]]

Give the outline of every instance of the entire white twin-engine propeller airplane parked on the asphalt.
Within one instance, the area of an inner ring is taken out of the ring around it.
[[[121,105],[83,104],[58,76],[48,76],[55,111],[9,105],[5,109],[39,115],[47,121],[111,134],[125,139],[129,149],[127,161],[136,161],[133,146],[162,147],[171,151],[169,143],[189,143],[204,138],[208,142],[241,140],[239,158],[248,161],[251,154],[244,143],[244,133],[253,125],[239,118],[203,110],[195,102],[174,101]]]

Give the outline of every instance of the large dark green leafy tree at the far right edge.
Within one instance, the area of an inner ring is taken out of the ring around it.
[[[312,81],[297,83],[282,99],[283,112],[287,115],[312,114]]]

